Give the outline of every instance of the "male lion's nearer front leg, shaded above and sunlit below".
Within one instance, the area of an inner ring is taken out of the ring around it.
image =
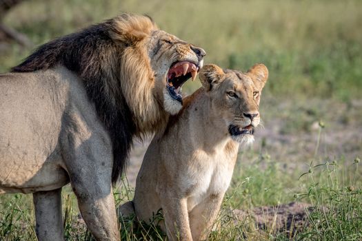
[[[112,145],[93,133],[63,138],[64,161],[81,215],[96,240],[120,240],[112,193]]]

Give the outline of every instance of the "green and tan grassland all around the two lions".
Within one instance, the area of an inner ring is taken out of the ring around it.
[[[336,131],[361,133],[362,1],[30,0],[6,15],[4,23],[37,46],[120,12],[149,14],[161,29],[204,48],[205,63],[239,70],[265,63],[270,71],[261,103],[265,124],[278,121],[282,137],[308,138],[316,146],[306,151],[281,142],[273,149],[274,139],[267,136],[254,149],[241,151],[219,229],[209,240],[362,240],[362,172],[361,163],[354,161],[355,154],[362,155],[361,139],[349,140],[345,152],[335,155],[340,136],[334,136],[334,144],[325,138]],[[0,50],[0,72],[31,51],[8,43]],[[199,85],[194,81],[184,90],[191,93]],[[315,129],[320,120],[325,128]],[[125,179],[114,190],[117,205],[132,196]],[[230,214],[232,209],[294,200],[308,202],[314,210],[308,214],[310,225],[292,234],[272,227],[260,230],[250,219],[235,222]],[[66,187],[66,239],[91,240],[78,215],[76,198]],[[120,222],[123,240],[162,237],[157,227],[135,225],[132,217]],[[36,240],[31,195],[0,196],[0,240]]]

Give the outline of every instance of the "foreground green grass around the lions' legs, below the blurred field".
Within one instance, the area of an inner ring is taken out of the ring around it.
[[[323,125],[319,128],[319,138],[322,132]],[[269,154],[243,150],[216,221],[219,228],[210,233],[209,240],[361,240],[362,178],[359,165],[358,157],[330,160],[315,156],[304,168],[305,172],[299,169],[286,171]],[[133,193],[127,179],[123,178],[121,185],[114,189],[117,206],[131,200]],[[4,240],[36,240],[30,198],[22,194],[0,197],[0,237]],[[294,233],[277,231],[272,226],[261,230],[252,219],[235,221],[232,218],[233,209],[251,210],[291,201],[307,202],[314,207],[307,211],[308,225]],[[63,191],[63,216],[67,240],[92,240],[85,224],[79,221],[79,209],[69,187]],[[156,225],[160,219],[162,216],[157,214],[154,224],[147,225],[136,222],[134,217],[121,218],[122,240],[162,240],[164,234]]]

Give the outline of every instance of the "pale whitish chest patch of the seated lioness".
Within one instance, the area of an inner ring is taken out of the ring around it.
[[[200,154],[194,159],[187,183],[188,211],[214,194],[225,193],[230,185],[236,158],[230,158],[223,151],[212,156]]]

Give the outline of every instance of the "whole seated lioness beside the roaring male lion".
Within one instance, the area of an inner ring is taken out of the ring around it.
[[[259,125],[263,64],[249,72],[205,65],[203,87],[154,137],[137,176],[134,200],[119,210],[146,222],[162,209],[170,240],[205,240],[230,184],[239,144],[252,143]]]

